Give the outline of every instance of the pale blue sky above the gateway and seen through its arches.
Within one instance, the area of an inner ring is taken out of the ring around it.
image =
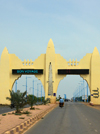
[[[100,0],[0,0],[0,56],[7,47],[22,61],[34,61],[46,53],[50,38],[55,53],[67,61],[80,61],[95,46],[100,52]],[[28,92],[32,93],[34,79],[37,95],[37,83],[41,82],[30,77]],[[25,91],[25,78],[17,81],[20,91]],[[57,97],[73,97],[82,80],[79,75],[67,75],[58,86]]]

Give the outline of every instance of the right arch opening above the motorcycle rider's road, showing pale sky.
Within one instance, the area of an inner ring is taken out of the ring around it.
[[[87,97],[90,98],[90,88],[80,75],[67,75],[58,85],[57,99],[59,95],[64,98],[64,94],[68,100],[75,101],[76,98],[81,98],[81,101],[87,101]]]

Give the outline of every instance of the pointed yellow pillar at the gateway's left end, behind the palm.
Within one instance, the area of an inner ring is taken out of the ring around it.
[[[9,54],[5,47],[0,60],[0,103],[5,104],[5,96],[9,94],[10,89],[10,76],[9,76]]]

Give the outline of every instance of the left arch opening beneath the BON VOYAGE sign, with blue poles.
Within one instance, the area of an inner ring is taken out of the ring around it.
[[[27,91],[27,95],[34,95],[36,96],[37,100],[41,100],[42,98],[43,101],[43,98],[45,97],[45,91],[42,82],[38,80],[35,75],[21,75],[20,78],[14,81],[12,90],[14,92],[20,90],[22,93]]]

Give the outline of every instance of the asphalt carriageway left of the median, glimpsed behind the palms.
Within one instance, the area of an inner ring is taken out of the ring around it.
[[[26,107],[30,107],[30,106],[29,105],[25,105],[24,108],[26,108]],[[16,108],[12,108],[11,109],[9,106],[0,106],[0,114],[11,112],[11,111],[15,111],[15,110],[16,110]]]

